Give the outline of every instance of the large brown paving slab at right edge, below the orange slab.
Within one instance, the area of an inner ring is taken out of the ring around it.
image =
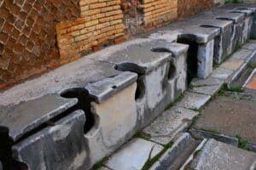
[[[239,135],[256,143],[256,105],[255,101],[218,97],[206,105],[196,129],[216,131],[228,136]]]

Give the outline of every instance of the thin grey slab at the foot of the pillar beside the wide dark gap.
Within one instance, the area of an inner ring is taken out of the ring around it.
[[[192,86],[214,86],[214,85],[219,85],[223,83],[224,83],[224,80],[221,80],[218,78],[212,78],[212,77],[207,77],[205,79],[194,78],[192,82],[190,82]]]

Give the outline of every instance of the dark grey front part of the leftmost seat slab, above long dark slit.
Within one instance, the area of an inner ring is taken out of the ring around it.
[[[57,94],[49,94],[39,99],[21,102],[19,105],[1,106],[0,127],[7,128],[9,137],[17,141],[34,128],[61,115],[77,102],[77,99],[64,99]]]

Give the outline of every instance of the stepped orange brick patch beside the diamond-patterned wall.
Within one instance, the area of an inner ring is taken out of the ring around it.
[[[80,54],[125,35],[119,0],[81,0],[79,20],[56,26],[61,58]]]

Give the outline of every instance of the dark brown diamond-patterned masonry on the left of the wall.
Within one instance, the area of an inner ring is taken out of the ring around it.
[[[79,0],[0,1],[0,88],[60,58],[55,24],[79,18]],[[2,86],[1,86],[2,85]]]

